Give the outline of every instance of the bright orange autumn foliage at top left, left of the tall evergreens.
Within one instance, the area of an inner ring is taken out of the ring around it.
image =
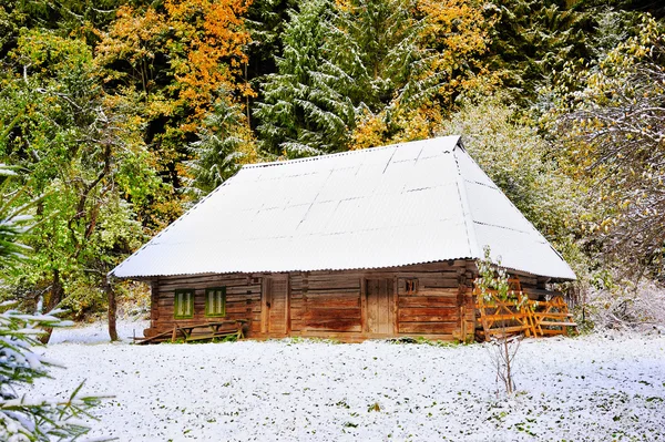
[[[133,91],[147,104],[146,115],[181,114],[180,130],[192,133],[217,92],[252,95],[243,79],[250,41],[244,0],[166,1],[144,11],[122,7],[101,34],[96,59],[119,91]],[[114,69],[130,64],[131,69]]]

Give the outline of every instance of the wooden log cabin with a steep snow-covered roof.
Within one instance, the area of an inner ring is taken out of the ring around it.
[[[489,246],[530,297],[575,278],[459,136],[244,166],[112,270],[150,282],[145,336],[472,339]]]

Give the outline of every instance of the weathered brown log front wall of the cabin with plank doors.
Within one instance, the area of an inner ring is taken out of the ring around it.
[[[152,327],[145,333],[219,319],[205,316],[205,289],[226,287],[226,318],[249,319],[248,338],[469,340],[475,329],[475,271],[473,261],[450,260],[378,270],[161,277],[151,281]],[[530,292],[543,290],[535,277],[520,280]],[[174,319],[176,289],[194,290],[194,318]]]

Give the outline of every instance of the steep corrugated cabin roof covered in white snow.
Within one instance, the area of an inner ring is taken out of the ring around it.
[[[381,268],[480,258],[484,245],[508,268],[575,277],[446,136],[245,166],[112,274]]]

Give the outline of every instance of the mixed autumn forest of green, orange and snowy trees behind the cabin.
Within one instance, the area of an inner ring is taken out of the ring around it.
[[[0,300],[145,305],[108,271],[243,164],[461,134],[592,326],[665,321],[664,30],[649,0],[2,0]]]

